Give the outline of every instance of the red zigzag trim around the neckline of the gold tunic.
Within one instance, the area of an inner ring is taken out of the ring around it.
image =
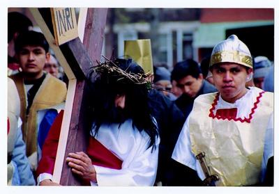
[[[217,93],[215,99],[213,100],[213,103],[211,104],[211,108],[209,110],[209,117],[211,118],[217,118],[218,120],[222,119],[222,120],[234,120],[234,121],[240,121],[240,122],[251,122],[252,120],[252,115],[255,113],[255,110],[257,108],[257,104],[259,104],[259,99],[262,97],[262,95],[264,94],[264,91],[259,92],[259,96],[257,97],[256,102],[254,103],[254,106],[251,108],[251,113],[249,114],[249,118],[234,118],[234,117],[226,117],[226,116],[220,116],[220,115],[214,115],[213,111],[216,108],[219,96],[220,96],[220,92]]]

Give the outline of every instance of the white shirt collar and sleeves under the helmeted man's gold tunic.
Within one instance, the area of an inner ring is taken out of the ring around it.
[[[220,108],[237,108],[236,118],[249,118],[249,114],[251,112],[252,106],[254,106],[255,99],[258,95],[258,92],[255,88],[250,88],[246,95],[241,97],[241,99],[236,100],[233,104],[229,102],[225,102],[225,100],[220,98],[218,99],[218,103],[216,105],[216,110]],[[214,113],[216,113],[216,110]],[[200,179],[205,179],[204,172],[202,172],[202,168],[199,165],[199,161],[195,159],[195,154],[193,154],[191,150],[191,142],[190,142],[190,133],[189,133],[189,118],[187,118],[186,122],[183,125],[181,133],[179,135],[179,139],[176,142],[174,147],[174,152],[172,153],[172,159],[182,163],[183,165],[187,165],[189,168],[197,171],[197,175]],[[262,175],[261,180],[263,181],[266,164],[268,159],[273,156],[273,114],[271,114],[269,119],[269,124],[266,129],[265,140],[264,140],[264,155],[262,159]]]

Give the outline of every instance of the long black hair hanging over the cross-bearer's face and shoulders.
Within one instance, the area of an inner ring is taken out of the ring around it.
[[[144,74],[140,65],[131,59],[116,58],[113,61],[121,70],[127,73]],[[123,74],[117,72],[102,72],[93,81],[92,102],[93,102],[93,127],[98,134],[98,129],[103,123],[112,123],[114,113],[121,114],[123,120],[117,120],[119,124],[130,118],[133,120],[133,129],[145,131],[150,137],[149,147],[155,147],[158,127],[151,117],[151,110],[148,105],[147,83],[134,83]],[[116,110],[114,99],[116,95],[126,95],[124,110]],[[119,111],[123,111],[119,113]],[[120,126],[120,125],[119,125]],[[96,136],[96,134],[94,134]]]

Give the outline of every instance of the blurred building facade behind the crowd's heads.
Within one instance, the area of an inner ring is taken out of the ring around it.
[[[252,55],[273,60],[272,8],[112,8],[107,16],[104,54],[123,56],[124,40],[151,39],[154,65],[172,70],[181,60],[200,62],[232,33]],[[257,42],[257,43],[256,43]]]

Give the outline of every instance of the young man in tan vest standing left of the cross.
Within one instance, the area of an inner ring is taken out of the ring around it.
[[[27,157],[32,170],[38,164],[37,111],[60,104],[66,100],[66,84],[49,73],[43,72],[45,61],[50,58],[49,45],[43,33],[27,31],[15,40],[15,56],[22,69],[10,76],[20,95],[22,135],[27,145]]]

